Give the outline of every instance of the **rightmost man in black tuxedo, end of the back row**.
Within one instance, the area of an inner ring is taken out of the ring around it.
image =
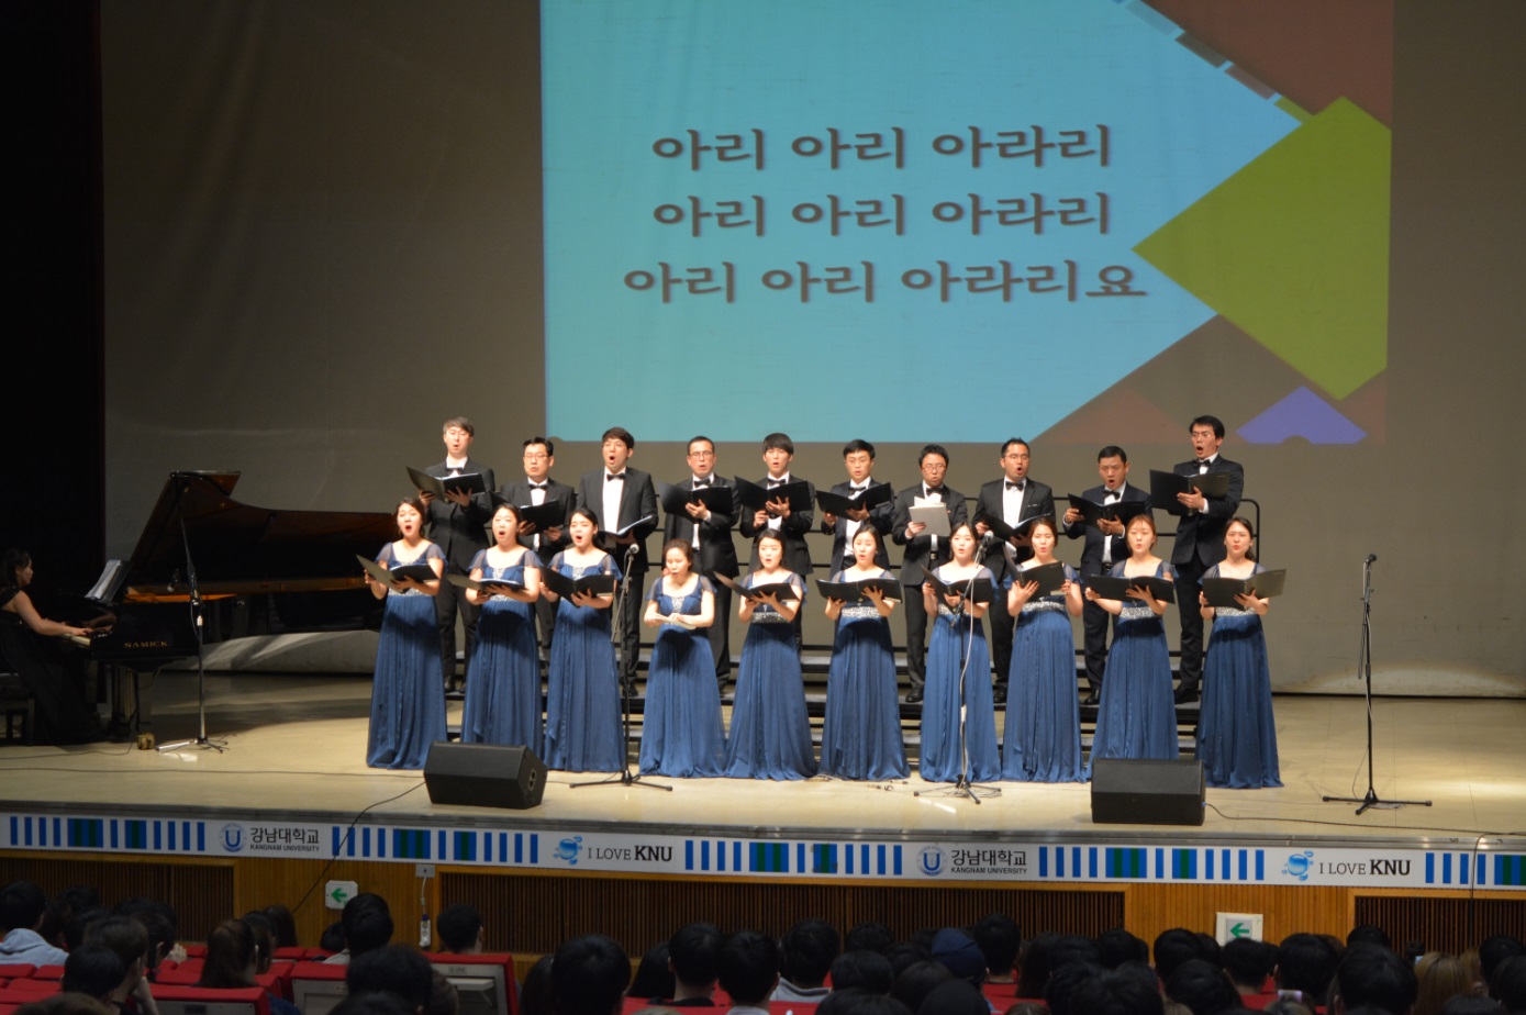
[[[1224,560],[1224,531],[1245,493],[1245,470],[1239,462],[1219,455],[1224,423],[1218,417],[1199,415],[1187,432],[1192,435],[1193,459],[1178,462],[1172,472],[1178,476],[1227,472],[1230,488],[1222,498],[1206,498],[1196,487],[1192,493],[1177,495],[1186,511],[1177,524],[1177,545],[1170,551],[1170,563],[1177,568],[1177,607],[1181,614],[1181,682],[1177,685],[1177,704],[1198,701],[1202,681],[1202,614],[1198,612],[1198,594],[1202,591],[1202,574]]]

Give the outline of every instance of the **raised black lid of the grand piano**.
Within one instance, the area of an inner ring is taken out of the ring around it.
[[[125,565],[128,600],[185,595],[186,542],[203,597],[359,589],[356,554],[397,537],[383,511],[285,511],[235,501],[241,473],[172,472]],[[185,534],[182,536],[182,519]]]

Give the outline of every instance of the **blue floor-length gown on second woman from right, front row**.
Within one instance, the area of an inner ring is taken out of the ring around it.
[[[1126,577],[1123,568],[1125,562],[1116,563],[1108,574]],[[1155,577],[1167,574],[1175,580],[1175,569],[1161,562]],[[1144,603],[1123,600],[1102,672],[1091,762],[1099,757],[1172,760],[1180,754],[1166,626]]]

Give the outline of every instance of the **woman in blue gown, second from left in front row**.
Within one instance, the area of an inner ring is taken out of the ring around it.
[[[478,640],[467,670],[461,713],[462,743],[522,743],[540,756],[540,659],[534,603],[540,598],[540,557],[519,545],[519,511],[493,511],[493,546],[472,560],[467,589],[481,606]],[[501,583],[501,585],[499,585]]]

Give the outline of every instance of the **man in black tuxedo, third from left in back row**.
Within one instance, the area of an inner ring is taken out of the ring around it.
[[[658,528],[658,491],[650,475],[626,466],[636,453],[636,438],[626,427],[612,426],[604,430],[600,453],[604,467],[586,472],[578,479],[577,507],[588,508],[598,519],[600,540],[626,575],[615,623],[620,624],[620,679],[633,687],[641,653],[638,617],[647,591],[647,536]],[[635,525],[636,522],[641,525]],[[632,525],[635,528],[624,536],[615,536]]]

